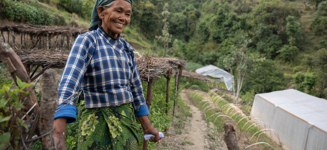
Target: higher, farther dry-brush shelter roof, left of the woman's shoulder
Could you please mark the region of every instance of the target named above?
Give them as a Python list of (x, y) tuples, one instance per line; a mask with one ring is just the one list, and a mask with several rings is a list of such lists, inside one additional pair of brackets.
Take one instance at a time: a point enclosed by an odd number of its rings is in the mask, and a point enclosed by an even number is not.
[(77, 34), (82, 34), (89, 29), (87, 28), (74, 28), (74, 27), (59, 27), (59, 26), (41, 26), (41, 25), (31, 25), (31, 24), (22, 24), (22, 25), (10, 25), (10, 26), (0, 26), (0, 31), (14, 31), (24, 34), (31, 34), (35, 36), (45, 36), (49, 35), (69, 35), (77, 36)]

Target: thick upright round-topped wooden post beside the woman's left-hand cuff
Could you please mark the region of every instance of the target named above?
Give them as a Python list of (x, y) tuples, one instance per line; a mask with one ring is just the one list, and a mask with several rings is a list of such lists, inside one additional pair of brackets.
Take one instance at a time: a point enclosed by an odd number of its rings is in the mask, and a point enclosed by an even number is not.
[(55, 148), (53, 141), (53, 120), (55, 111), (58, 106), (58, 78), (57, 71), (54, 69), (48, 69), (44, 72), (42, 82), (42, 97), (41, 97), (41, 110), (40, 110), (40, 134), (45, 135), (41, 138), (42, 150), (52, 150)]

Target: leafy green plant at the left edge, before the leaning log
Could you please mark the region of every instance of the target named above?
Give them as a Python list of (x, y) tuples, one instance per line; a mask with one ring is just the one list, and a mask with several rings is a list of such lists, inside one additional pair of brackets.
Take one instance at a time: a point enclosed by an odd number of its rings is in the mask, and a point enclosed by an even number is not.
[(3, 83), (0, 85), (0, 149), (11, 146), (18, 148), (17, 141), (21, 139), (21, 133), (28, 130), (27, 125), (21, 119), (25, 113), (25, 107), (20, 102), (21, 97), (31, 94), (23, 91), (33, 83), (27, 84), (17, 78), (16, 89), (10, 89), (11, 84)]

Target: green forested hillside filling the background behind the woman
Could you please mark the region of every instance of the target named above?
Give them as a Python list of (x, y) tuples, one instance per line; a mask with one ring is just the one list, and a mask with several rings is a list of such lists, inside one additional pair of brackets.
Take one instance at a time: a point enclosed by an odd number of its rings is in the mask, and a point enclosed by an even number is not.
[[(2, 18), (19, 22), (87, 28), (94, 2), (1, 0), (0, 11)], [(36, 15), (24, 14), (27, 10)], [(134, 0), (123, 34), (149, 55), (212, 64), (235, 77), (238, 68), (247, 67), (240, 91), (245, 100), (285, 88), (327, 98), (324, 0)], [(237, 52), (253, 60), (251, 65), (237, 65)]]

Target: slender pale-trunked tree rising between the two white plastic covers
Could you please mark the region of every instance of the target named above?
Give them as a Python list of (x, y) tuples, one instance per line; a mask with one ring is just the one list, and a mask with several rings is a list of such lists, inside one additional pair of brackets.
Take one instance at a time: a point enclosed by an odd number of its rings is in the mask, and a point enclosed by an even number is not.
[(235, 79), (233, 77), (233, 92), (234, 92), (234, 102), (238, 102), (239, 94), (243, 85), (244, 78), (247, 74), (254, 68), (259, 62), (264, 60), (258, 55), (250, 53), (248, 50), (248, 44), (251, 40), (247, 39), (245, 36), (239, 42), (237, 48), (234, 48), (233, 52), (224, 59), (225, 68), (233, 74), (233, 67), (236, 67), (237, 71), (237, 87), (236, 87), (236, 98), (235, 98)]

